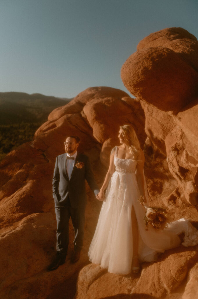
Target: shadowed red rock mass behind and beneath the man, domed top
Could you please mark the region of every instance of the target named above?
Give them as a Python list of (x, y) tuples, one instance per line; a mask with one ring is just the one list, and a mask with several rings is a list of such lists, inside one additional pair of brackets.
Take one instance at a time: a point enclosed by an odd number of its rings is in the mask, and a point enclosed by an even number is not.
[(91, 158), (100, 183), (110, 150), (118, 144), (119, 126), (132, 123), (143, 146), (144, 121), (140, 102), (124, 91), (89, 88), (66, 106), (55, 109), (32, 142), (21, 145), (4, 158), (0, 167), (0, 298), (74, 297), (77, 273), (88, 263), (88, 247), (101, 202), (87, 188), (89, 200), (81, 258), (75, 265), (69, 262), (73, 239), (70, 223), (66, 264), (57, 271), (47, 272), (56, 240), (52, 198), (55, 157), (64, 152), (63, 142), (68, 135), (78, 135), (79, 151)]

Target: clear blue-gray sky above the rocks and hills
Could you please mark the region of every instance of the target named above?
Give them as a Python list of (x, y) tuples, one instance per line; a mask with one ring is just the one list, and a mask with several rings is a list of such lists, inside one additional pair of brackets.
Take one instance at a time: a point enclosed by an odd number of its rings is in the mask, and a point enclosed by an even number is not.
[(127, 91), (121, 66), (141, 39), (167, 27), (198, 38), (198, 0), (0, 0), (0, 91)]

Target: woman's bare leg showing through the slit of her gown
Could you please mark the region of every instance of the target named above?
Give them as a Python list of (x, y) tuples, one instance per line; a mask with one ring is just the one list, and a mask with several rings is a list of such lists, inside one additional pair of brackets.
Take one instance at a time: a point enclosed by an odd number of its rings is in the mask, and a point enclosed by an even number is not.
[[(132, 271), (138, 273), (139, 259), (138, 259), (138, 222), (135, 215), (134, 207), (131, 209), (131, 224), (132, 224), (132, 236), (133, 236), (133, 260), (132, 260)], [(136, 269), (133, 269), (136, 268)]]

